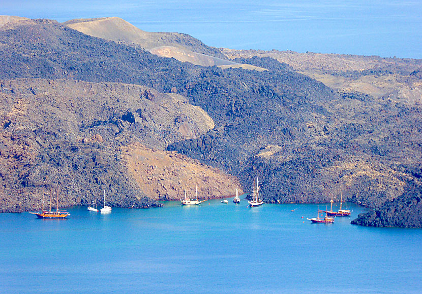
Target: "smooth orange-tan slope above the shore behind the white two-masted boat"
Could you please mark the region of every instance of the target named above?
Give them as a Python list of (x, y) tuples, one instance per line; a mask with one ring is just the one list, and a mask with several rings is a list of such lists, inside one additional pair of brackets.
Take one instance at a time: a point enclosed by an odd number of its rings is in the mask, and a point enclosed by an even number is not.
[(188, 197), (193, 198), (195, 185), (200, 199), (228, 197), (240, 188), (236, 177), (174, 152), (136, 143), (123, 147), (122, 157), (140, 189), (153, 199), (179, 200), (185, 187)]

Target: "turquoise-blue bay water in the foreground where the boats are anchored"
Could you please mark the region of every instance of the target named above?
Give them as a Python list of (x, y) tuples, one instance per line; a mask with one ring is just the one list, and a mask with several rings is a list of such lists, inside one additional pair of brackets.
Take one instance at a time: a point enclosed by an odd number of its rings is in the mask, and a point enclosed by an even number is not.
[(1, 213), (0, 293), (422, 292), (420, 229), (350, 225), (366, 209), (349, 203), (351, 217), (311, 224), (317, 205), (229, 200)]

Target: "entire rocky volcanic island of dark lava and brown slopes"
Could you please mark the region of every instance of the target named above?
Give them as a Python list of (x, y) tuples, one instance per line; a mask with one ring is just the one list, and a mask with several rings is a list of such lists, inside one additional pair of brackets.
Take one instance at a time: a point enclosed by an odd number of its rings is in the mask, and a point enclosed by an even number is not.
[(48, 187), (65, 205), (106, 190), (113, 206), (149, 207), (258, 176), (267, 203), (343, 192), (372, 209), (356, 224), (422, 226), (420, 60), (218, 50), (133, 27), (116, 40), (128, 27), (2, 17), (1, 211), (37, 208)]

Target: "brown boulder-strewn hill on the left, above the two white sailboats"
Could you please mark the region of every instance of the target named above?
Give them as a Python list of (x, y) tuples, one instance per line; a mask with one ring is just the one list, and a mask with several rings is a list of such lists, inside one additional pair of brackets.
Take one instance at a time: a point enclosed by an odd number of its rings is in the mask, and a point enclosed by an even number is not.
[(36, 209), (50, 188), (61, 190), (63, 205), (106, 190), (113, 206), (154, 206), (155, 194), (135, 185), (124, 164), (124, 147), (163, 149), (214, 127), (185, 97), (136, 85), (3, 80), (0, 105), (0, 211)]

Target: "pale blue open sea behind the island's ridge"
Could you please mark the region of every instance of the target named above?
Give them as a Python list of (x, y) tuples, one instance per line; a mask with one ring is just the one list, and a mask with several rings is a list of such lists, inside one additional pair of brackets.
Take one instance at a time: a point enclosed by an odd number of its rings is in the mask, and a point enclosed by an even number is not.
[(0, 0), (0, 14), (60, 22), (117, 16), (217, 48), (422, 58), (420, 0)]

